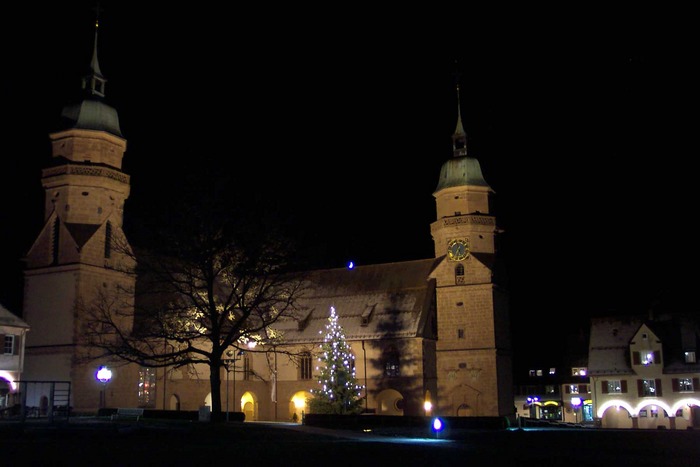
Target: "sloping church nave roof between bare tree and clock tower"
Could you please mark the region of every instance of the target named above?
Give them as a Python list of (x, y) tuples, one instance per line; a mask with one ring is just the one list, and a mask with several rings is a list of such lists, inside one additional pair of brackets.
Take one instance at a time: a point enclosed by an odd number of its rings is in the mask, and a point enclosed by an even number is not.
[(300, 300), (304, 316), (283, 318), (273, 327), (285, 343), (323, 341), (330, 307), (348, 340), (398, 337), (434, 338), (426, 322), (435, 297), (430, 274), (440, 259), (324, 269), (308, 273)]

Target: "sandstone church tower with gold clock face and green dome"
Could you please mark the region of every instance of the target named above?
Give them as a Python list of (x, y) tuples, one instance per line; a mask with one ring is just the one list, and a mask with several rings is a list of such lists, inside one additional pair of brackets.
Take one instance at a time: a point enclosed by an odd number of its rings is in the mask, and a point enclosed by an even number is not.
[(445, 416), (512, 416), (513, 375), (508, 299), (494, 280), (493, 189), (479, 161), (467, 154), (457, 85), (453, 157), (433, 193), (430, 226), (437, 268), (437, 412)]

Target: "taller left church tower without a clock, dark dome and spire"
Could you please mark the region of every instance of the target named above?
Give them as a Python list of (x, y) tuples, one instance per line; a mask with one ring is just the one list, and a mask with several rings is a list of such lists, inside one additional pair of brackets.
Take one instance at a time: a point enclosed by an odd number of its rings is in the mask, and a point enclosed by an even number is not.
[[(97, 38), (96, 22), (82, 98), (63, 109), (58, 131), (49, 135), (52, 159), (41, 177), (44, 224), (24, 258), (23, 313), (32, 329), (24, 379), (70, 382), (76, 412), (95, 410), (104, 401), (95, 379), (99, 362), (78, 358), (85, 310), (117, 287), (134, 285), (122, 231), (130, 191), (122, 172), (126, 140), (116, 110), (104, 102), (107, 80), (97, 60)], [(41, 387), (28, 397), (47, 397)], [(118, 382), (110, 387), (116, 390)]]

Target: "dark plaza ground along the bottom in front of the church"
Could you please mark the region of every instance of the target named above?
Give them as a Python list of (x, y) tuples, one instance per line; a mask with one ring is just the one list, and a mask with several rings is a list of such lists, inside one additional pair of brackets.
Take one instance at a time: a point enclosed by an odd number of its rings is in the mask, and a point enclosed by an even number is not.
[(700, 431), (334, 430), (292, 423), (0, 422), (7, 465), (598, 466), (700, 465)]

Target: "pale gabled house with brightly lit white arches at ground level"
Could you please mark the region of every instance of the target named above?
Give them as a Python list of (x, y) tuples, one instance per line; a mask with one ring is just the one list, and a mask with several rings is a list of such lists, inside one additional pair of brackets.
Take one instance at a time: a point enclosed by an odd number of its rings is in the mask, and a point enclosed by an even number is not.
[(603, 428), (700, 428), (700, 326), (692, 314), (591, 322), (589, 377)]

